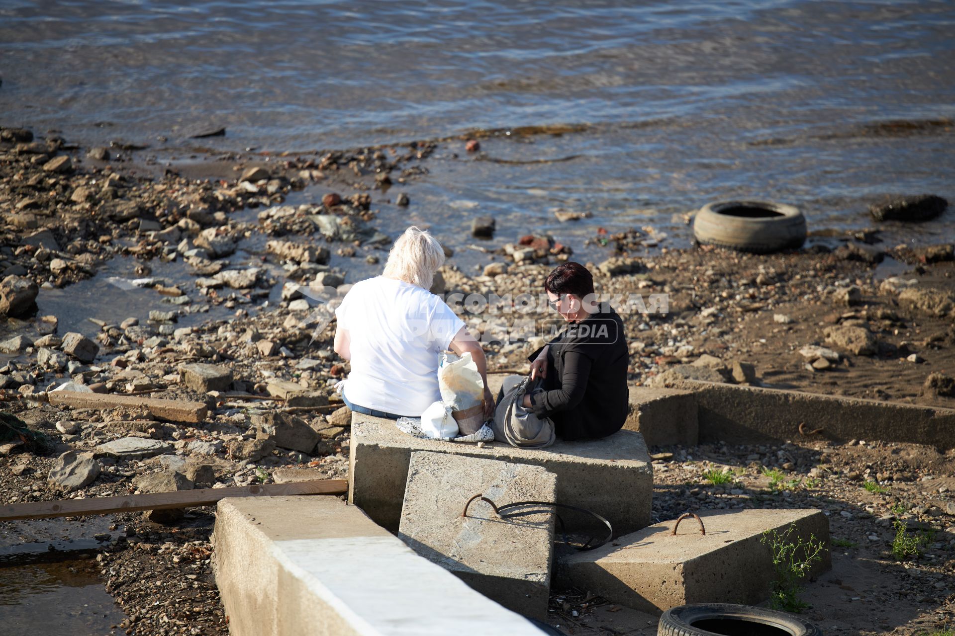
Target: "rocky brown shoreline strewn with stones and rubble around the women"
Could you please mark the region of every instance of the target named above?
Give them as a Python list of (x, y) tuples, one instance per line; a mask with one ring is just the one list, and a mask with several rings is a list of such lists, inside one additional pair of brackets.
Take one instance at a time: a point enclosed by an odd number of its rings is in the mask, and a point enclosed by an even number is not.
[[(446, 143), (459, 143), (461, 152), (477, 150), (463, 141)], [(84, 154), (54, 135), (37, 141), (29, 131), (0, 130), (0, 311), (8, 317), (0, 342), (7, 355), (0, 399), (49, 442), (45, 453), (17, 441), (0, 443), (0, 500), (347, 476), (350, 418), (332, 387), (349, 366), (331, 351), (333, 323), (316, 329), (309, 321), (320, 308), (309, 300), (332, 289), (333, 306), (355, 281), (359, 264), (383, 261), (391, 238), (375, 228), (373, 204), (389, 186), (412, 184), (424, 174), (436, 147), (420, 142), (275, 157), (257, 162), (265, 165), (236, 164), (229, 179), (174, 172), (152, 178), (126, 165), (130, 151)], [(284, 205), (293, 191), (319, 186), (326, 189), (321, 203)], [(399, 195), (399, 205), (414, 204)], [(835, 250), (751, 256), (664, 249), (634, 256), (653, 242), (640, 235), (595, 237), (607, 246), (606, 258), (588, 263), (600, 293), (668, 294), (668, 314), (623, 316), (634, 383), (655, 385), (676, 375), (955, 408), (951, 244), (885, 247), (863, 233), (845, 236)], [(237, 253), (243, 242), (261, 246), (258, 256)], [(533, 234), (513, 244), (500, 241), (487, 250), (479, 273), (446, 265), (435, 292), (462, 298), (538, 294), (543, 278), (573, 247)], [(156, 293), (157, 309), (148, 320), (103, 322), (96, 337), (87, 338), (61, 334), (56, 316), (34, 315), (43, 290), (96, 276), (117, 256), (138, 259), (136, 284)], [(151, 276), (152, 264), (173, 260), (186, 264), (192, 284)], [(465, 302), (462, 318), (485, 340), (492, 372), (524, 371), (526, 355), (553, 316), (545, 307), (520, 313), (507, 300), (495, 302), (495, 311), (485, 306), (479, 312), (468, 312)], [(179, 325), (180, 318), (210, 306), (231, 315)], [(533, 333), (499, 341), (519, 319), (531, 320)], [(50, 403), (48, 391), (66, 381), (96, 394), (200, 402), (208, 415), (189, 423), (142, 407)], [(824, 501), (836, 513), (834, 536), (871, 530), (881, 541), (884, 522), (899, 518), (947, 535), (937, 535), (940, 545), (933, 544), (932, 553), (950, 554), (955, 547), (955, 482), (935, 487), (934, 503), (920, 501), (926, 471), (955, 479), (951, 451), (816, 441), (654, 450), (661, 453), (653, 503), (658, 519), (702, 503)], [(911, 461), (896, 466), (899, 453)], [(714, 488), (701, 477), (703, 468), (729, 465), (742, 470), (737, 488)], [(789, 482), (814, 485), (771, 488), (762, 466), (778, 467)], [(861, 511), (867, 516), (859, 514), (859, 498), (868, 497), (860, 495), (859, 481), (892, 493), (869, 498)], [(118, 628), (130, 634), (226, 633), (211, 572), (212, 513), (117, 516), (117, 531), (96, 558), (129, 617)], [(865, 558), (886, 559), (876, 540), (863, 544), (859, 554), (869, 550)], [(944, 576), (953, 570), (944, 556), (917, 567)], [(904, 598), (916, 614), (938, 610), (948, 617), (953, 590), (934, 584), (934, 575), (915, 577)], [(158, 592), (165, 596), (156, 605)], [(932, 602), (919, 605), (924, 598)], [(564, 602), (552, 605), (571, 621)], [(592, 610), (600, 604), (584, 605)], [(894, 633), (918, 632), (904, 625)]]

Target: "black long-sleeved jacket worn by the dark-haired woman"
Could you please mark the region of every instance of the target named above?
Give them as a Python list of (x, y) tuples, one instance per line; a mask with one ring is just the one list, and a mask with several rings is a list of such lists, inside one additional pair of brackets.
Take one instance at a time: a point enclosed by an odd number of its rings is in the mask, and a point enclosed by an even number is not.
[[(629, 351), (617, 312), (601, 303), (600, 312), (567, 324), (547, 344), (545, 391), (532, 396), (534, 412), (550, 417), (563, 440), (603, 438), (619, 431), (629, 409)], [(528, 359), (534, 361), (541, 349)]]

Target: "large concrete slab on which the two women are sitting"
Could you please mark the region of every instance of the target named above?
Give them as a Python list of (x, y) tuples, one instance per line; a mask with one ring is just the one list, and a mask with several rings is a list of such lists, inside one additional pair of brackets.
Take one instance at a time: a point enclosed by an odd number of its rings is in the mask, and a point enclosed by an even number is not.
[(602, 440), (557, 441), (541, 450), (495, 441), (473, 443), (419, 440), (391, 420), (351, 414), (349, 501), (376, 523), (397, 530), (414, 451), (433, 451), (543, 466), (557, 475), (557, 502), (603, 515), (614, 535), (650, 523), (653, 469), (640, 433), (617, 431)]

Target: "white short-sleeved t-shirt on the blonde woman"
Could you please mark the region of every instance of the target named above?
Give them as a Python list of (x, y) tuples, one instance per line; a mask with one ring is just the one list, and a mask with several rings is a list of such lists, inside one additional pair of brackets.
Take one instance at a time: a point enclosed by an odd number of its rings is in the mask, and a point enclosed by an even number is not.
[(351, 287), (335, 317), (349, 332), (350, 402), (417, 418), (441, 399), (440, 352), (464, 326), (441, 298), (404, 280), (373, 277)]

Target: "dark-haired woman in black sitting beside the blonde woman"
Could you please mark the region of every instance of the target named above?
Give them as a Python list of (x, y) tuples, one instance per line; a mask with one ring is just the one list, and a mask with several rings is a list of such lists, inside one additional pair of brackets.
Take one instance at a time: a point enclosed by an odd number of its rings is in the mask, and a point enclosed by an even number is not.
[(544, 289), (566, 325), (531, 354), (531, 380), (540, 377), (544, 391), (525, 395), (523, 406), (551, 418), (563, 440), (616, 433), (628, 410), (624, 323), (609, 303), (596, 302), (593, 277), (580, 263), (558, 266)]

